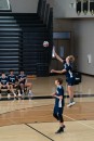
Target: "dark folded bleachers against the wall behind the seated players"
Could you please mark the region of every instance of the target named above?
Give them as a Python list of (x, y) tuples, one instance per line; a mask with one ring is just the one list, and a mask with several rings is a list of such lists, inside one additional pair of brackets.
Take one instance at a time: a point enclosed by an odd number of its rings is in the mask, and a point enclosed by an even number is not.
[(53, 10), (45, 0), (39, 1), (37, 13), (0, 13), (0, 72), (49, 76), (52, 47)]

